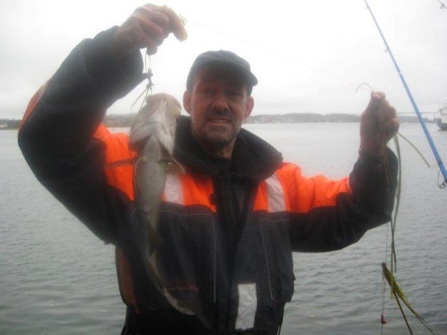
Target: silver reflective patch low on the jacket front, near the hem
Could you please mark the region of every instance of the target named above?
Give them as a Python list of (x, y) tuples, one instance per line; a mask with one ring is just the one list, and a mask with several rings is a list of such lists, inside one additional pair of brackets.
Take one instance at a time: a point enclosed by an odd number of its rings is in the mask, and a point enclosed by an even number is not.
[(237, 307), (236, 329), (251, 329), (254, 327), (254, 317), (258, 298), (256, 283), (239, 284), (239, 306)]

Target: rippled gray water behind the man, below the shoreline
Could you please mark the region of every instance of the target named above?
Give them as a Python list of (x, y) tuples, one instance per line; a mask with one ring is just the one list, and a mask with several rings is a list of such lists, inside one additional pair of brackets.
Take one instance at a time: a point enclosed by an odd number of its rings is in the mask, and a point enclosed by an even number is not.
[[(447, 132), (428, 125), (444, 161)], [(305, 175), (348, 174), (358, 151), (358, 124), (251, 124)], [(418, 124), (404, 141), (397, 221), (397, 278), (437, 334), (447, 334), (447, 189)], [(17, 131), (0, 132), (0, 334), (119, 334), (114, 248), (104, 245), (38, 184), (17, 147)], [(381, 262), (387, 227), (334, 253), (296, 253), (295, 295), (281, 334), (381, 334)], [(408, 312), (414, 334), (429, 334)], [(409, 334), (386, 292), (383, 334)]]

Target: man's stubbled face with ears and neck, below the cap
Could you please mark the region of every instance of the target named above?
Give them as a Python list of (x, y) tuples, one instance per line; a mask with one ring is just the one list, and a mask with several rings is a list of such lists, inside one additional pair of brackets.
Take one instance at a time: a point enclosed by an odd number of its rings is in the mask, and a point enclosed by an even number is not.
[(212, 150), (233, 149), (242, 121), (254, 106), (244, 78), (231, 68), (198, 69), (183, 103), (191, 114), (193, 136)]

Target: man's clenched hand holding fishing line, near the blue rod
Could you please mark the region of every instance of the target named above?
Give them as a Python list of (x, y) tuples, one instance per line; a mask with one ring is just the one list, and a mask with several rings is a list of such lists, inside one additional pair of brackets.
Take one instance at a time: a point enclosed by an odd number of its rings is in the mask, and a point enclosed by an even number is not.
[(372, 91), (371, 100), (360, 118), (360, 151), (379, 158), (385, 144), (399, 130), (395, 107), (390, 106), (383, 92)]

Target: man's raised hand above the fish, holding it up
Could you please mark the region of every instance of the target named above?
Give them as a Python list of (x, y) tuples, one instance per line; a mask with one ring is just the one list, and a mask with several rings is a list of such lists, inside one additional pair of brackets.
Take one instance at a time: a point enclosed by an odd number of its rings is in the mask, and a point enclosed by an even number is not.
[(119, 60), (145, 47), (148, 54), (155, 54), (170, 33), (177, 40), (186, 40), (188, 35), (184, 29), (184, 20), (168, 6), (147, 3), (138, 7), (113, 34), (114, 57)]

